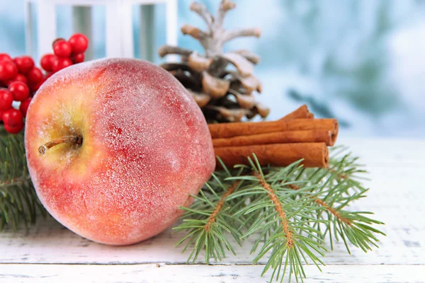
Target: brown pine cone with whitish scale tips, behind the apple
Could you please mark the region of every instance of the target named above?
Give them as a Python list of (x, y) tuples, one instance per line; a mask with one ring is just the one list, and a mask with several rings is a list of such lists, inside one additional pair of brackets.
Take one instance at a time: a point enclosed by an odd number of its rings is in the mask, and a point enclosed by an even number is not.
[(162, 64), (162, 67), (188, 89), (209, 123), (237, 122), (244, 117), (250, 120), (256, 115), (266, 117), (270, 112), (256, 102), (253, 94), (254, 91), (261, 93), (261, 82), (253, 74), (260, 57), (248, 50), (222, 52), (222, 46), (229, 40), (261, 34), (259, 28), (224, 30), (225, 14), (235, 6), (232, 1), (222, 0), (214, 18), (203, 4), (191, 4), (191, 10), (207, 23), (207, 30), (183, 25), (181, 32), (198, 40), (205, 54), (169, 45), (158, 50), (161, 57), (181, 55), (181, 62)]

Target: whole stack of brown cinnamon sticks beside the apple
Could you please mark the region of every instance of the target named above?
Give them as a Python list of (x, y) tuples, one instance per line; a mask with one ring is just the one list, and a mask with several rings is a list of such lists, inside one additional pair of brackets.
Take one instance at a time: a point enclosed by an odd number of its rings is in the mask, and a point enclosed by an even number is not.
[[(336, 119), (314, 119), (307, 105), (277, 121), (210, 124), (215, 155), (228, 168), (248, 163), (256, 154), (261, 166), (288, 166), (303, 159), (305, 167), (327, 167), (338, 136)], [(220, 163), (217, 163), (220, 169)]]

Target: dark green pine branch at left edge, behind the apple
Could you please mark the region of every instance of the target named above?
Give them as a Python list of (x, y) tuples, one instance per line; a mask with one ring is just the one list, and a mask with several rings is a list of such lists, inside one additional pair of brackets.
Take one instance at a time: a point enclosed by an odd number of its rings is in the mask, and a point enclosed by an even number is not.
[(35, 224), (38, 213), (46, 215), (26, 166), (23, 134), (8, 134), (0, 125), (0, 230)]

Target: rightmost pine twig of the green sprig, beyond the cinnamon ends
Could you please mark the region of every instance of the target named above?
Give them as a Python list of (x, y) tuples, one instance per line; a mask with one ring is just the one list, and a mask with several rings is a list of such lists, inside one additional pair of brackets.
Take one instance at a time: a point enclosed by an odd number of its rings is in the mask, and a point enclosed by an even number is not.
[[(334, 150), (337, 154), (341, 154), (341, 149)], [(344, 151), (344, 148), (342, 148)], [(351, 253), (348, 242), (365, 252), (372, 250), (372, 246), (378, 247), (378, 238), (375, 233), (385, 235), (381, 231), (370, 226), (371, 224), (383, 224), (366, 217), (364, 214), (370, 212), (351, 212), (344, 208), (353, 203), (353, 201), (365, 197), (368, 192), (361, 183), (355, 179), (361, 179), (358, 173), (365, 173), (359, 170), (356, 164), (357, 158), (352, 158), (350, 154), (344, 155), (342, 158), (334, 158), (331, 162), (331, 168), (321, 168), (315, 171), (303, 171), (306, 180), (311, 180), (317, 186), (317, 198), (312, 200), (317, 207), (324, 207), (325, 210), (314, 212), (314, 216), (318, 219), (327, 219), (325, 223), (314, 224), (314, 228), (323, 230), (322, 238), (328, 236), (331, 249), (333, 250), (333, 240), (344, 241), (348, 253)], [(308, 185), (309, 183), (305, 183)], [(293, 190), (300, 189), (300, 186), (291, 184), (289, 186)], [(323, 228), (324, 227), (324, 228)], [(333, 233), (333, 234), (332, 234)]]

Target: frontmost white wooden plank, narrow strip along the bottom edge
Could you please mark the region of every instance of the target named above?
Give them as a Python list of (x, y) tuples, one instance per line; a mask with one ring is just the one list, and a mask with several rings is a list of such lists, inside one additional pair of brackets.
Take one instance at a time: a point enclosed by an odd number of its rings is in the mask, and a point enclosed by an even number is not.
[[(0, 265), (0, 281), (268, 282), (270, 273), (260, 277), (261, 270), (261, 265)], [(305, 272), (305, 282), (423, 282), (425, 265), (328, 265), (323, 272), (310, 265)]]

